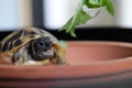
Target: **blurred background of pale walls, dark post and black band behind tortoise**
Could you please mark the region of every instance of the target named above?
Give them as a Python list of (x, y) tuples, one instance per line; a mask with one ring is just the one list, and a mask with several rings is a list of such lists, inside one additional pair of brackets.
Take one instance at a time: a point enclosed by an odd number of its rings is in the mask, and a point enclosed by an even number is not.
[[(19, 28), (25, 26), (52, 30), (51, 32), (58, 38), (73, 38), (65, 35), (65, 33), (58, 34), (55, 30), (58, 30), (69, 20), (79, 1), (80, 0), (0, 0), (0, 38)], [(87, 30), (77, 31), (78, 37), (87, 37), (86, 40), (94, 40), (94, 36), (98, 38), (101, 37), (101, 40), (105, 37), (123, 37), (123, 40), (125, 40), (123, 35), (129, 35), (125, 34), (125, 32), (128, 33), (129, 29), (129, 33), (131, 33), (130, 30), (132, 29), (132, 0), (113, 0), (113, 2), (116, 15), (112, 16), (103, 8), (100, 9), (101, 12), (97, 18), (79, 26), (79, 29), (85, 28)], [(99, 30), (89, 30), (91, 28)], [(114, 31), (106, 31), (106, 29), (103, 29), (102, 31), (100, 28), (118, 29), (114, 29)], [(116, 30), (120, 30), (120, 33)], [(130, 37), (132, 36), (127, 36), (127, 38)]]

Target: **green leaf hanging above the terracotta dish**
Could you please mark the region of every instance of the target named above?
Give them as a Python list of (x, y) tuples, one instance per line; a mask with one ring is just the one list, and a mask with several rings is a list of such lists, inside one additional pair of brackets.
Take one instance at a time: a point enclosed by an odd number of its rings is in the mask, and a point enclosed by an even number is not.
[(66, 24), (61, 29), (65, 30), (66, 33), (70, 33), (72, 36), (76, 37), (75, 28), (80, 24), (85, 24), (90, 19), (96, 18), (99, 14), (99, 11), (95, 14), (95, 16), (90, 15), (89, 12), (84, 10), (84, 7), (88, 9), (100, 9), (106, 8), (106, 10), (110, 14), (114, 14), (114, 8), (112, 0), (80, 0), (75, 14), (66, 22)]

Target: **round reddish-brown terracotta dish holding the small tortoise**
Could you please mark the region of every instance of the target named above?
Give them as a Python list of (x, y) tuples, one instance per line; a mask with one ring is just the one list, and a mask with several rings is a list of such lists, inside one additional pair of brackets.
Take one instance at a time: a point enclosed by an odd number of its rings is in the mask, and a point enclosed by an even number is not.
[(0, 66), (0, 87), (119, 88), (132, 86), (132, 44), (68, 42), (68, 66)]

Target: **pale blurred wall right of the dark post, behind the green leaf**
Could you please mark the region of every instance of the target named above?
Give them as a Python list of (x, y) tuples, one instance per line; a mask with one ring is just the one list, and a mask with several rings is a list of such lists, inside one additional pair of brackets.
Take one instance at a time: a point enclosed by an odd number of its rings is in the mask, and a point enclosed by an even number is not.
[[(54, 0), (54, 2), (53, 0), (44, 1), (46, 2), (45, 25), (59, 29), (74, 14), (80, 0)], [(101, 9), (101, 12), (97, 18), (88, 21), (82, 26), (132, 28), (132, 0), (113, 0), (113, 2), (116, 8), (114, 16), (110, 15), (105, 9)], [(55, 6), (57, 7), (55, 8)]]

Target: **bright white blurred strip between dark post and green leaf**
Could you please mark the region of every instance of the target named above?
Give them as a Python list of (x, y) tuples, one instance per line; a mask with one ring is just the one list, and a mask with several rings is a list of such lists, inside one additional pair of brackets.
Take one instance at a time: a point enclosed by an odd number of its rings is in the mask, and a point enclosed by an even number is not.
[(44, 0), (44, 25), (61, 28), (68, 19), (68, 0)]

